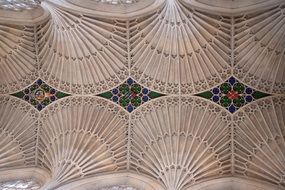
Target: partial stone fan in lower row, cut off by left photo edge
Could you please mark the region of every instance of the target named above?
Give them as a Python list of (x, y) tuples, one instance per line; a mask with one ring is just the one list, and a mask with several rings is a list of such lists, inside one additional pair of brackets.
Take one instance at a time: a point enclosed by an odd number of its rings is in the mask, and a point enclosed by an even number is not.
[(0, 169), (35, 166), (37, 117), (26, 102), (0, 96)]

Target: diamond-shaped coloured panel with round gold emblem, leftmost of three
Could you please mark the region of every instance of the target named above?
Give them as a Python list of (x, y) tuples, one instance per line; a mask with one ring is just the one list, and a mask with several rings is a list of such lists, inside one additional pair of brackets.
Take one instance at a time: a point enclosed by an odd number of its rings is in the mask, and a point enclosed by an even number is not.
[(11, 95), (29, 102), (30, 104), (35, 106), (35, 108), (37, 108), (39, 111), (41, 111), (44, 107), (46, 107), (50, 103), (60, 98), (69, 96), (69, 94), (65, 94), (50, 87), (41, 79), (38, 79), (34, 84), (29, 86), (28, 88)]

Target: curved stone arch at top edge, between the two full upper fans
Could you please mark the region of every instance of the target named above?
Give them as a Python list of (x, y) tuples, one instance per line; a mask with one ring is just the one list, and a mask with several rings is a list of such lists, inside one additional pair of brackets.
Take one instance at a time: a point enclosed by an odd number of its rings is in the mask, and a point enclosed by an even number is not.
[(155, 12), (164, 0), (47, 0), (66, 10), (103, 18), (129, 19)]

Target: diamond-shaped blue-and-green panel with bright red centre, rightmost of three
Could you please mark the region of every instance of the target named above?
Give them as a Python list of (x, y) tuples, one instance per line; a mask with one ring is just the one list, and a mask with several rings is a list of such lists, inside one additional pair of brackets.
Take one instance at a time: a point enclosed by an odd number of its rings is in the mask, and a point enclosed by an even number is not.
[(196, 94), (209, 99), (223, 107), (229, 112), (234, 113), (240, 107), (257, 100), (269, 96), (269, 94), (254, 90), (230, 77), (226, 82), (213, 88), (212, 90)]

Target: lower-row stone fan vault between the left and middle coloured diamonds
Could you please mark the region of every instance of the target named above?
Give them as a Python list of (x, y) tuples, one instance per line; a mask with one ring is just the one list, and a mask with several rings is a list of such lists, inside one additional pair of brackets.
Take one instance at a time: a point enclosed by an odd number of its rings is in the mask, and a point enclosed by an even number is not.
[(96, 97), (64, 98), (41, 112), (39, 164), (57, 184), (126, 168), (128, 116)]

